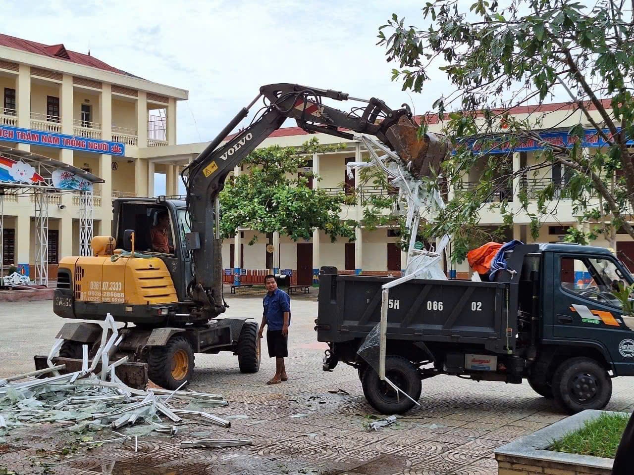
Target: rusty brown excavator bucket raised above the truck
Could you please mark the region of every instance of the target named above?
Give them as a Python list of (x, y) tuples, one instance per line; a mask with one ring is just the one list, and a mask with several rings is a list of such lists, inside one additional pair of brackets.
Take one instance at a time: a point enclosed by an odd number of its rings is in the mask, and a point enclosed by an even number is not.
[(449, 150), (449, 144), (437, 134), (427, 132), (419, 139), (418, 125), (406, 116), (387, 129), (385, 136), (394, 147), (396, 155), (403, 162), (411, 163), (410, 172), (418, 178), (429, 176), (431, 170), (438, 173)]

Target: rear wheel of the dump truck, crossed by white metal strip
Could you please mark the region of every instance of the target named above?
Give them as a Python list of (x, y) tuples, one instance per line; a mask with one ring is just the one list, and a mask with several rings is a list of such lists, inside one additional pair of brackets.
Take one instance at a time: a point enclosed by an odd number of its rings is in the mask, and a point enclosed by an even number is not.
[[(385, 376), (410, 397), (417, 401), (420, 398), (422, 384), (416, 367), (409, 360), (399, 356), (385, 358)], [(381, 381), (374, 369), (368, 367), (361, 380), (363, 395), (370, 405), (381, 414), (403, 414), (414, 403), (403, 394), (398, 393), (385, 381)]]

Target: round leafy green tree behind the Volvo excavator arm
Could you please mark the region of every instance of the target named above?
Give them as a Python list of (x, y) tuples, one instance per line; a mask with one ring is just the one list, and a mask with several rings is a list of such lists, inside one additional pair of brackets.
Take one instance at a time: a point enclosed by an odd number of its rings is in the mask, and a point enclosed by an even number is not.
[(339, 218), (345, 197), (309, 188), (308, 177), (312, 175), (317, 182), (318, 175), (297, 174), (297, 168), (305, 167), (313, 153), (334, 148), (321, 146), (313, 138), (301, 147), (274, 145), (250, 153), (242, 162), (245, 172), (228, 180), (220, 193), (222, 237), (234, 236), (238, 227), (245, 227), (261, 234), (279, 231), (297, 241), (312, 238), (317, 228), (332, 241), (354, 239), (356, 222)]

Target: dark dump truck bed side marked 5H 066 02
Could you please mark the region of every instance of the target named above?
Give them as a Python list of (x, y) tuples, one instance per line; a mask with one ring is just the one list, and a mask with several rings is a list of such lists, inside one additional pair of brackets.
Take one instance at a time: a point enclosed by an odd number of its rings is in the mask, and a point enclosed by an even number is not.
[[(318, 340), (364, 339), (380, 320), (381, 286), (392, 277), (320, 276)], [(479, 344), (495, 353), (514, 345), (515, 308), (510, 284), (462, 280), (412, 280), (391, 289), (387, 338)], [(513, 299), (515, 300), (515, 299)]]

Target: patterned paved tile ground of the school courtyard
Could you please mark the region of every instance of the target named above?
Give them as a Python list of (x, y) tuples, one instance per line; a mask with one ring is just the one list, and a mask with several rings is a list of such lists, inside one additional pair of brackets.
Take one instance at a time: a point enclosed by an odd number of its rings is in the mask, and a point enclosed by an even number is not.
[[(259, 298), (231, 295), (228, 303), (228, 316), (259, 320)], [(375, 412), (363, 398), (356, 371), (346, 365), (321, 371), (324, 346), (313, 331), (316, 299), (294, 297), (292, 308), (287, 383), (264, 384), (274, 369), (266, 357), (259, 373), (244, 375), (230, 353), (197, 355), (192, 388), (223, 393), (230, 402), (210, 412), (248, 416), (234, 419), (230, 429), (192, 419), (176, 436), (140, 438), (135, 453), (129, 442), (87, 450), (60, 426), (25, 426), (0, 445), (0, 474), (4, 467), (18, 474), (61, 475), (492, 475), (496, 447), (564, 417), (527, 384), (437, 376), (423, 383), (422, 407), (399, 418), (394, 428), (369, 432), (365, 425)], [(50, 301), (1, 304), (0, 321), (0, 376), (32, 369), (32, 355), (48, 352), (63, 323), (52, 314)], [(616, 379), (607, 409), (631, 410), (633, 388), (633, 378)], [(339, 389), (349, 395), (329, 392)], [(254, 445), (178, 448), (180, 441), (196, 437), (243, 436)]]

